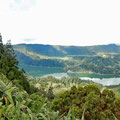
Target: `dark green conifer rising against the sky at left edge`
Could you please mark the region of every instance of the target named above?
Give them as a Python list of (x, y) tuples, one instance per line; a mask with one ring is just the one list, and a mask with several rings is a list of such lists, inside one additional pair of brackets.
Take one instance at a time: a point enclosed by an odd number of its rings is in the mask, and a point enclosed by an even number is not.
[(11, 40), (8, 40), (7, 44), (3, 45), (1, 34), (0, 58), (0, 72), (3, 73), (11, 81), (19, 81), (19, 85), (21, 85), (27, 92), (29, 92), (29, 82), (27, 81), (27, 78), (24, 75), (24, 71), (20, 71), (18, 68), (18, 61), (16, 59), (14, 49), (11, 45)]

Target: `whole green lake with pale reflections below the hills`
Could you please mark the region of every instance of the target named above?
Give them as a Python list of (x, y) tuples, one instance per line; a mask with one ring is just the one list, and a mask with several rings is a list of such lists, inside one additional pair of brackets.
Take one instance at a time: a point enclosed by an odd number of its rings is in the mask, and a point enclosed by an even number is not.
[(100, 83), (106, 86), (120, 84), (120, 77), (117, 77), (115, 75), (98, 75), (87, 73), (67, 74), (63, 68), (46, 68), (38, 66), (20, 66), (20, 69), (21, 68), (24, 68), (28, 76), (33, 77), (53, 76), (58, 79), (62, 77), (79, 77), (83, 80), (92, 80), (93, 82)]

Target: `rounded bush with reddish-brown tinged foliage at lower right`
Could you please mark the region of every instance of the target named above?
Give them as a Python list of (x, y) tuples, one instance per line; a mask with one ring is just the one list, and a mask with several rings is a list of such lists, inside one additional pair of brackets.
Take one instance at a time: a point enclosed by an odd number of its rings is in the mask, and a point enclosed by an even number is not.
[(60, 114), (71, 114), (81, 119), (84, 113), (85, 120), (114, 120), (120, 119), (120, 99), (115, 97), (112, 90), (104, 89), (102, 92), (96, 85), (85, 87), (73, 86), (53, 100), (52, 109), (59, 110)]

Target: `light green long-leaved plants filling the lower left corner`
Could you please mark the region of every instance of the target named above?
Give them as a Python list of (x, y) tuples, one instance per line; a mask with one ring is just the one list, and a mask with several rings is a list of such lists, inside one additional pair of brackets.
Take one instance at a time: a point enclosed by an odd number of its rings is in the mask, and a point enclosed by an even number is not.
[(56, 120), (58, 112), (38, 92), (28, 94), (0, 75), (0, 120)]

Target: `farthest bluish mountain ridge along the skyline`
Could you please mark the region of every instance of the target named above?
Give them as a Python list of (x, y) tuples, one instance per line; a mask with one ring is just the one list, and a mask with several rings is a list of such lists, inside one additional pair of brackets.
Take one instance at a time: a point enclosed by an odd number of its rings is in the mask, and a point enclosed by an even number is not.
[(95, 46), (59, 46), (42, 44), (18, 44), (14, 45), (15, 51), (31, 51), (50, 57), (63, 57), (67, 55), (95, 55), (100, 52), (120, 53), (120, 46), (116, 44)]

